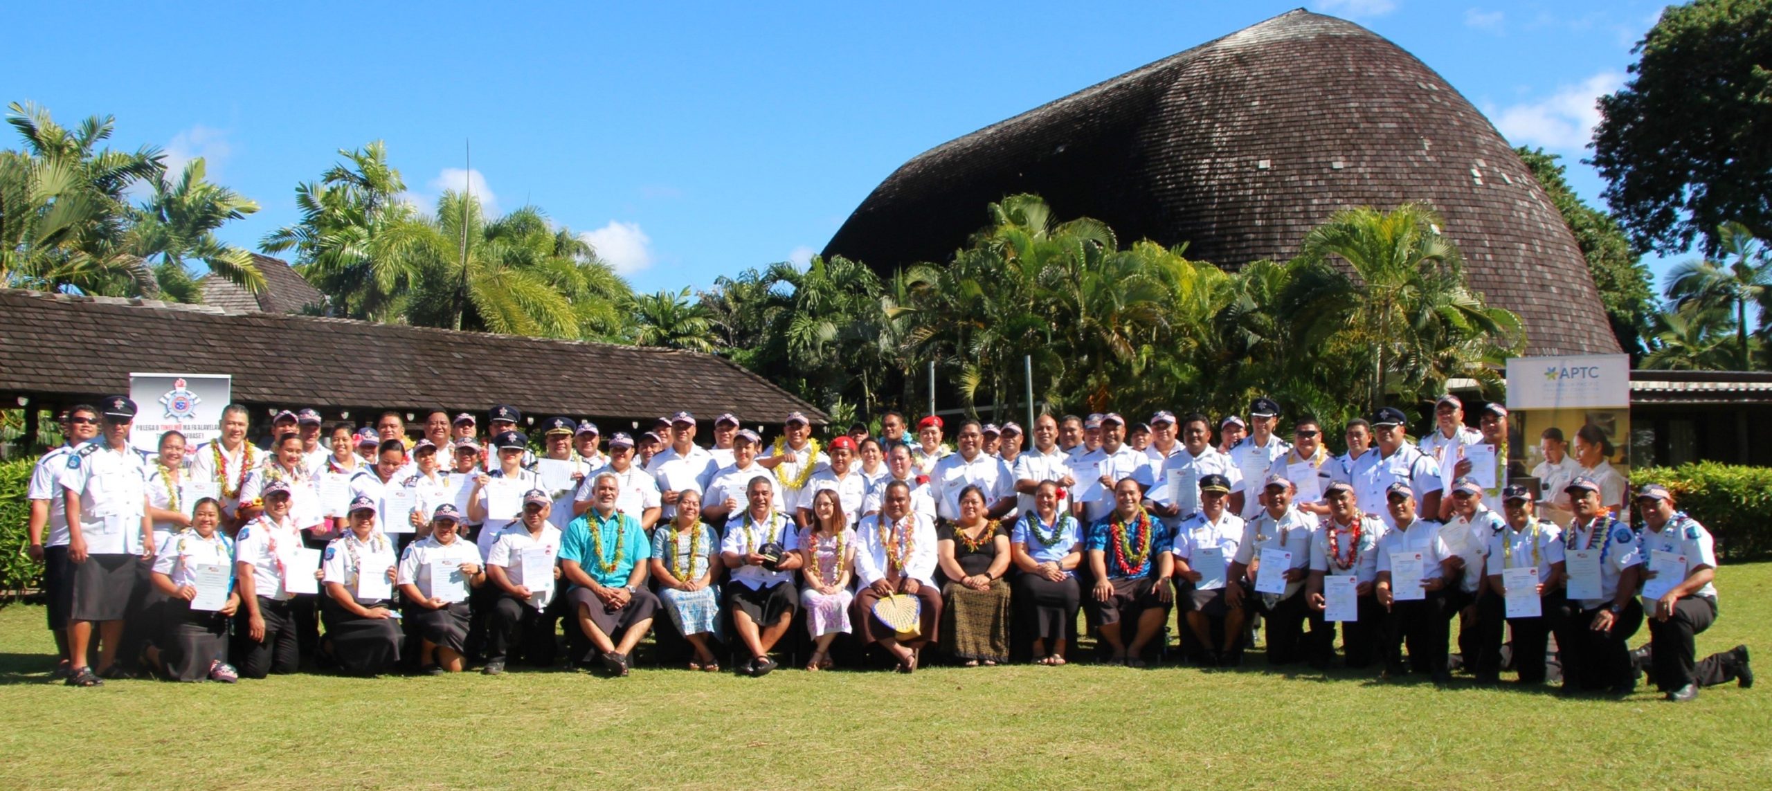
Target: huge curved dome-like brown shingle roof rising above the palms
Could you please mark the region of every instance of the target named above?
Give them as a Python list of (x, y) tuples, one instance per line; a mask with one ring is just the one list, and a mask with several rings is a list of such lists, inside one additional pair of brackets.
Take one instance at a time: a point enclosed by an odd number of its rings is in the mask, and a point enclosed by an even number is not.
[(1419, 200), (1531, 355), (1616, 353), (1575, 238), (1464, 96), (1350, 21), (1294, 11), (907, 161), (826, 255), (948, 261), (1005, 195), (1235, 270), (1283, 261), (1334, 211)]

